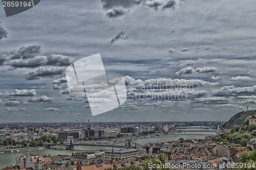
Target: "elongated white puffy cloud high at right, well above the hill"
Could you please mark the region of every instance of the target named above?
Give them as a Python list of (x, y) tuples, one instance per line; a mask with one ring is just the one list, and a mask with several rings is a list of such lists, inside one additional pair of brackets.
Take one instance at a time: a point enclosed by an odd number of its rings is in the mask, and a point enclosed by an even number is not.
[(185, 75), (185, 74), (192, 74), (194, 72), (198, 73), (208, 73), (208, 72), (216, 72), (219, 69), (216, 67), (199, 67), (199, 68), (192, 68), (192, 67), (186, 67), (182, 68), (181, 70), (177, 71), (177, 75)]

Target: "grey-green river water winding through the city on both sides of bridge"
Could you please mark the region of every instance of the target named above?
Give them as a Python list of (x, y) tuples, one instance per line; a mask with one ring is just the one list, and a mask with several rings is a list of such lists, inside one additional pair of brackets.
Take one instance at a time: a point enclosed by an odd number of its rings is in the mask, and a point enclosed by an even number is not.
[[(216, 135), (214, 132), (182, 132), (182, 133), (176, 133), (176, 134), (170, 134), (170, 135), (164, 135), (164, 136), (157, 136), (157, 137), (151, 137), (151, 138), (139, 138), (134, 139), (132, 141), (139, 143), (139, 144), (146, 144), (147, 142), (165, 142), (165, 141), (172, 141), (177, 140), (180, 137), (183, 137), (185, 139), (204, 139), (205, 136), (208, 135)], [(10, 153), (10, 154), (0, 154), (0, 169), (15, 165), (15, 158), (18, 155), (23, 154), (35, 154), (35, 155), (58, 155), (58, 154), (66, 154), (71, 155), (72, 152), (82, 152), (82, 151), (95, 151), (95, 150), (111, 150), (109, 147), (88, 147), (88, 146), (75, 146), (74, 151), (65, 150), (65, 148), (57, 148), (57, 149), (45, 149), (41, 151), (32, 151), (32, 152), (19, 152), (19, 153)]]

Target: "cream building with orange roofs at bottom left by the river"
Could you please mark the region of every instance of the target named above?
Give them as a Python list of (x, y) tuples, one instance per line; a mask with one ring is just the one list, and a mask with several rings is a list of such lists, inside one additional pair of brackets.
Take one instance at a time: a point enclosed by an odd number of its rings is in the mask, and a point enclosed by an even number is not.
[(33, 168), (34, 170), (43, 170), (45, 159), (42, 156), (19, 155), (16, 157), (16, 165), (20, 169)]

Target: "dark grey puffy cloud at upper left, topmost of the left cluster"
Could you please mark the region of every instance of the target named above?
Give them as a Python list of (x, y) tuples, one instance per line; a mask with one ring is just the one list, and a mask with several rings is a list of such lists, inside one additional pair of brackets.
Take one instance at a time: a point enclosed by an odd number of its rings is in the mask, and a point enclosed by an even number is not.
[(11, 59), (29, 59), (37, 56), (41, 52), (40, 45), (31, 45), (28, 47), (21, 47), (19, 51), (14, 54)]

